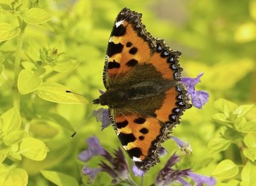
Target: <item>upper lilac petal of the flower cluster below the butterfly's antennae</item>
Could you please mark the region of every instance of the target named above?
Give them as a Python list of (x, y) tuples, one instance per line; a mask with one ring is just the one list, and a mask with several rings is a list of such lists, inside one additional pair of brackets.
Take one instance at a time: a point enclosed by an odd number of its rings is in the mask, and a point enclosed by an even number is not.
[(91, 138), (88, 138), (86, 142), (89, 145), (89, 148), (87, 150), (82, 151), (78, 155), (78, 159), (82, 160), (83, 162), (87, 162), (90, 160), (93, 156), (106, 156), (107, 152), (103, 147), (100, 145), (100, 141), (96, 136), (93, 136)]

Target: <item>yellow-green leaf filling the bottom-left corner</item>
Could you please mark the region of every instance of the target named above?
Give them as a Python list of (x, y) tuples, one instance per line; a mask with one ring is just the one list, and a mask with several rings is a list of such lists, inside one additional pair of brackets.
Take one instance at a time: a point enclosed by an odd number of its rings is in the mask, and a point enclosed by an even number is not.
[(26, 186), (28, 183), (28, 174), (23, 168), (7, 167), (0, 164), (0, 177), (0, 185)]

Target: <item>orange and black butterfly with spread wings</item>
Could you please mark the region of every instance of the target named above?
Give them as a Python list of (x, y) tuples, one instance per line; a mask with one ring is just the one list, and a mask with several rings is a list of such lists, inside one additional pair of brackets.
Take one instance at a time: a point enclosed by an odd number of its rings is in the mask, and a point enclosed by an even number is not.
[(93, 103), (109, 106), (126, 153), (147, 172), (159, 162), (161, 144), (191, 105), (180, 82), (181, 53), (151, 36), (141, 16), (127, 8), (117, 15), (103, 70), (107, 90)]

